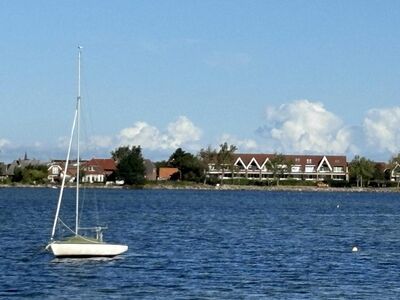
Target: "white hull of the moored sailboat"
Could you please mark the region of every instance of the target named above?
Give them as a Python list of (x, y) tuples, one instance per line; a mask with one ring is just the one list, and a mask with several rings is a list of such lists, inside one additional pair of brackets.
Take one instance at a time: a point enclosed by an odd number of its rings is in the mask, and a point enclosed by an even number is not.
[(51, 243), (50, 249), (56, 257), (112, 257), (128, 250), (127, 245), (106, 243)]

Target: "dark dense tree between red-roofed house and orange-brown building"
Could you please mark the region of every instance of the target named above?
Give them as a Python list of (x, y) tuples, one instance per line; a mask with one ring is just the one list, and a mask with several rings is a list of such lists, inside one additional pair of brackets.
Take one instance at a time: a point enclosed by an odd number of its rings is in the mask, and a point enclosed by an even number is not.
[(140, 146), (120, 147), (113, 151), (112, 157), (116, 159), (116, 178), (124, 180), (127, 185), (142, 185), (145, 182), (145, 166)]

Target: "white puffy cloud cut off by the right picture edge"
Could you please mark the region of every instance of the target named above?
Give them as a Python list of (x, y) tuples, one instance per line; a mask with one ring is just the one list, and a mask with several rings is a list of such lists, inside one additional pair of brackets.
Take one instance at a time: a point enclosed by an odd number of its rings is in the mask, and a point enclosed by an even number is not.
[(364, 118), (364, 132), (369, 146), (381, 152), (397, 154), (400, 147), (400, 107), (375, 108)]

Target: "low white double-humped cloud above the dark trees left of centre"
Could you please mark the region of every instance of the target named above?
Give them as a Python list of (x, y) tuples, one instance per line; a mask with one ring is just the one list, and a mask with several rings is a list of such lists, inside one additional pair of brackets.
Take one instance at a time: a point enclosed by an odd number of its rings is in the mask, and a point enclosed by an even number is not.
[(133, 127), (122, 129), (118, 136), (121, 145), (140, 145), (149, 150), (190, 146), (200, 137), (201, 130), (185, 116), (180, 116), (168, 124), (165, 131), (160, 131), (146, 122), (136, 122)]

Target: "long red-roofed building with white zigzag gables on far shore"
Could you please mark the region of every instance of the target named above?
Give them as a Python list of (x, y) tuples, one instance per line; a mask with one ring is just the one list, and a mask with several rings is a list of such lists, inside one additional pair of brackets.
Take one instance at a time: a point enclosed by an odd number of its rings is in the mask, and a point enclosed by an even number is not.
[(247, 178), (254, 180), (273, 179), (274, 176), (280, 176), (280, 179), (295, 180), (349, 180), (349, 172), (346, 156), (334, 155), (283, 155), (288, 169), (281, 174), (274, 174), (271, 160), (275, 154), (234, 154), (233, 168), (226, 168), (224, 172), (216, 168), (215, 165), (209, 165), (208, 174), (224, 179)]

